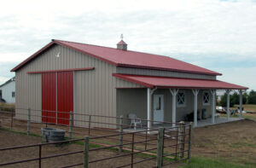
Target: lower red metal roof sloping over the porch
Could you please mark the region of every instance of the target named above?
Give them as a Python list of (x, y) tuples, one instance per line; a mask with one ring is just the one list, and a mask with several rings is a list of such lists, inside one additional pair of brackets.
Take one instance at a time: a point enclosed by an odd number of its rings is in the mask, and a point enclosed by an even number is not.
[(183, 89), (217, 89), (217, 90), (247, 90), (236, 84), (230, 84), (219, 80), (195, 79), (195, 78), (169, 78), (155, 76), (138, 76), (113, 73), (116, 78), (141, 84), (148, 88), (183, 88)]

